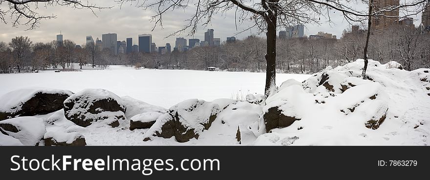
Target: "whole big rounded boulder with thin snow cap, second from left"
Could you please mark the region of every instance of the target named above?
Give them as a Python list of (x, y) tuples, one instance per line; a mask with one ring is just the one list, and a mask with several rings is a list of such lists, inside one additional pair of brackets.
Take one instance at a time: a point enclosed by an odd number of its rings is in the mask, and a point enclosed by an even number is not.
[(117, 95), (105, 89), (85, 89), (64, 100), (64, 116), (83, 127), (101, 122), (118, 127), (126, 121), (126, 105)]

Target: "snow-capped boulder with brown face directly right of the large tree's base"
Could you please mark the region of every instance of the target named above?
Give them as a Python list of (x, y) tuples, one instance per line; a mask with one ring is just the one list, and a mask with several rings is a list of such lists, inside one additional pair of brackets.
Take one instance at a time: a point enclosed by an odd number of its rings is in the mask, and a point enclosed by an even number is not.
[(293, 84), (267, 98), (263, 107), (266, 132), (274, 128), (288, 127), (294, 121), (301, 120), (300, 109), (296, 107), (301, 103), (298, 98), (301, 94), (304, 94), (303, 88)]

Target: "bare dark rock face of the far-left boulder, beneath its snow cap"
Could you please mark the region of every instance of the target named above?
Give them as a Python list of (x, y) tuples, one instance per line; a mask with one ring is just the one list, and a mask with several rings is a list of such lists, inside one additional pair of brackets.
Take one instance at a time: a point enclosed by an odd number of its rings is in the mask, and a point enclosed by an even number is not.
[[(63, 101), (69, 97), (68, 94), (36, 93), (30, 100), (22, 103), (21, 109), (14, 112), (1, 112), (0, 120), (6, 120), (17, 116), (35, 116), (48, 114), (63, 108)], [(21, 104), (17, 104), (19, 106)]]

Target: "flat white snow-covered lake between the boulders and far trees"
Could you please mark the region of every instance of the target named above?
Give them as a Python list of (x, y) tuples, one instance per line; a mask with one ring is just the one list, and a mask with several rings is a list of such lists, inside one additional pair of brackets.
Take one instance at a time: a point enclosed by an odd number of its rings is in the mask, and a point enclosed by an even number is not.
[[(248, 72), (135, 70), (125, 66), (60, 73), (40, 71), (0, 74), (0, 96), (13, 90), (33, 87), (65, 89), (74, 93), (87, 88), (102, 88), (120, 97), (129, 96), (169, 108), (180, 101), (194, 98), (212, 101), (220, 98), (237, 99), (237, 96), (244, 99), (247, 94), (263, 94), (265, 75)], [(277, 84), (288, 79), (303, 81), (309, 77), (278, 74)]]

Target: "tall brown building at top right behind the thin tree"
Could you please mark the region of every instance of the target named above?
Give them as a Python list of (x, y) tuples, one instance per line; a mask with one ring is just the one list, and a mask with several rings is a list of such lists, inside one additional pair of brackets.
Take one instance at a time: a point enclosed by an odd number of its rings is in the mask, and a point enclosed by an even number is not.
[[(400, 0), (374, 0), (374, 11), (380, 11), (386, 7), (398, 6), (400, 4)], [(382, 30), (386, 29), (397, 23), (399, 17), (399, 9), (395, 9), (392, 11), (382, 12), (382, 15), (378, 15), (375, 18), (372, 18), (371, 29), (372, 30)]]

